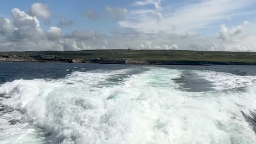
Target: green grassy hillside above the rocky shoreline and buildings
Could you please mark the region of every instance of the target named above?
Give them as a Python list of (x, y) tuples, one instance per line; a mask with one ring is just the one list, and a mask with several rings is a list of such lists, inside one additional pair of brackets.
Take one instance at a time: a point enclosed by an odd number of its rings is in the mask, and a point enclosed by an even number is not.
[(43, 54), (62, 58), (109, 58), (136, 59), (147, 61), (211, 61), (256, 63), (256, 52), (211, 52), (183, 50), (86, 50), (86, 51), (43, 51), (43, 52), (1, 52), (16, 56)]

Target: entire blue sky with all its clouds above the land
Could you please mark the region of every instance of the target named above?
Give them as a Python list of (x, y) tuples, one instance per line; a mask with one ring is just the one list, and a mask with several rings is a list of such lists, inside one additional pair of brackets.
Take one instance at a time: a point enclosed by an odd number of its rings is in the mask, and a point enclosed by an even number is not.
[(5, 1), (0, 51), (256, 51), (255, 0)]

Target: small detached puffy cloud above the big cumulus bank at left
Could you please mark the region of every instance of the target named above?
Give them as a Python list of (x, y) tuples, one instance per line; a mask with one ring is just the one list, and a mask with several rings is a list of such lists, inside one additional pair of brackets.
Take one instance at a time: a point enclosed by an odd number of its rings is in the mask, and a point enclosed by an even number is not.
[(31, 5), (29, 14), (32, 16), (42, 17), (43, 19), (49, 19), (51, 16), (51, 11), (46, 4), (33, 3)]

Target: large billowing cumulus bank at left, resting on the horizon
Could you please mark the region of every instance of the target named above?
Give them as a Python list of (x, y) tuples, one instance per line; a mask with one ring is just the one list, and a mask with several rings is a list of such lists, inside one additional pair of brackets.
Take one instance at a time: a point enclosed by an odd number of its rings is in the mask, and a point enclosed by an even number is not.
[(0, 18), (0, 51), (45, 51), (103, 49), (106, 37), (95, 31), (74, 31), (62, 35), (59, 27), (50, 27), (44, 32), (36, 16), (13, 9), (13, 26), (10, 20)]

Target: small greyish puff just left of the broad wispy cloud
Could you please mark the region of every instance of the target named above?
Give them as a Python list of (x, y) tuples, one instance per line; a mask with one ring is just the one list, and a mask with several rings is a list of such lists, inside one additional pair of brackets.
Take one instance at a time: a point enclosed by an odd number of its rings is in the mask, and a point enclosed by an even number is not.
[(107, 6), (105, 11), (116, 20), (123, 20), (127, 14), (127, 10), (125, 8), (111, 8)]

